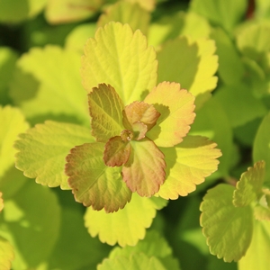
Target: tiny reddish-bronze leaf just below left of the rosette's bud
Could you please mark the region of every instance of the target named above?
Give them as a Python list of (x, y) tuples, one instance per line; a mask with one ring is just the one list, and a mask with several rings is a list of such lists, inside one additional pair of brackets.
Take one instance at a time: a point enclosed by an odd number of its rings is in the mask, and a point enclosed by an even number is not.
[(121, 136), (112, 137), (105, 144), (103, 160), (107, 166), (121, 166), (130, 157), (130, 143), (124, 141)]

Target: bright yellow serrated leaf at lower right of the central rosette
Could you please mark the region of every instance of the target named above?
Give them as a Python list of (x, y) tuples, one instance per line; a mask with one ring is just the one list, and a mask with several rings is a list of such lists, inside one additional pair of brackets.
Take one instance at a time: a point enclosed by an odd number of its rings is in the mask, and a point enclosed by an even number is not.
[(220, 149), (201, 136), (186, 136), (175, 148), (161, 148), (166, 161), (166, 181), (158, 195), (166, 200), (186, 196), (217, 170)]

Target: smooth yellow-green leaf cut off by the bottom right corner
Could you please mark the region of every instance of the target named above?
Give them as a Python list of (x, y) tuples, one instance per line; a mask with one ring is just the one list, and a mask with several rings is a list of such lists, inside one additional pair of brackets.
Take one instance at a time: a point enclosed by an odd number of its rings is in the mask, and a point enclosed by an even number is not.
[(268, 270), (270, 254), (269, 221), (254, 222), (253, 237), (247, 254), (238, 262), (239, 270)]

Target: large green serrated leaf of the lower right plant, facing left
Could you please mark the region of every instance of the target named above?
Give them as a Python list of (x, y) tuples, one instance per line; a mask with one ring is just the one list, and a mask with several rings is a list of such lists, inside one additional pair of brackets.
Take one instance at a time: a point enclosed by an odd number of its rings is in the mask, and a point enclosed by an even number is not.
[(202, 233), (212, 255), (225, 262), (238, 261), (250, 244), (253, 229), (253, 214), (249, 206), (235, 207), (232, 204), (234, 188), (219, 184), (203, 197)]

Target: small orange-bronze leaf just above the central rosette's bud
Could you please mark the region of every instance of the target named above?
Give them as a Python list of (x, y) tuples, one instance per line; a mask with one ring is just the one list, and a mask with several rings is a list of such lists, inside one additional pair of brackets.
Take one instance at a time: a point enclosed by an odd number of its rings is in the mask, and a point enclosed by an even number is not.
[(156, 122), (160, 113), (157, 112), (152, 104), (135, 101), (125, 106), (123, 112), (123, 125), (126, 129), (132, 130), (133, 125), (137, 122), (143, 122), (151, 130)]

